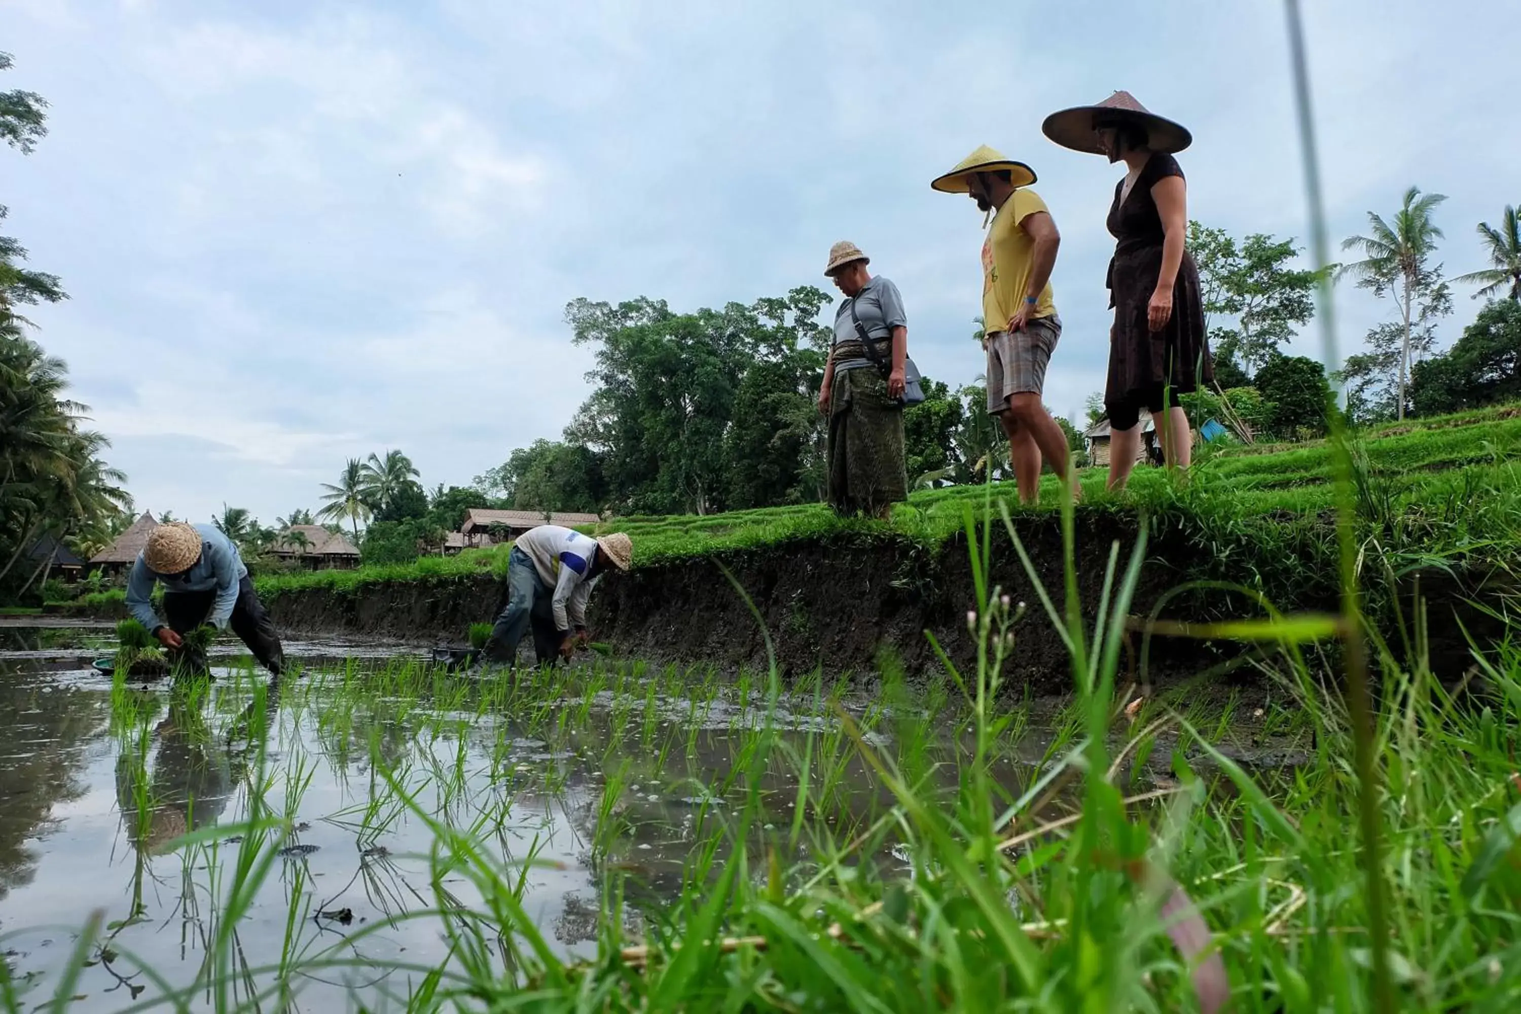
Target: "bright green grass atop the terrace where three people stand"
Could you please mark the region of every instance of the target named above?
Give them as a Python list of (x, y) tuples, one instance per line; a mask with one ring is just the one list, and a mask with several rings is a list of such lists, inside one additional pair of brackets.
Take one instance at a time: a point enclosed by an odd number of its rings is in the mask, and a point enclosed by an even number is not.
[[(1366, 520), (1390, 529), (1384, 532), (1386, 549), (1402, 538), (1402, 549), (1424, 556), (1484, 553), (1509, 559), (1521, 532), (1518, 447), (1521, 406), (1367, 430), (1358, 439), (1360, 453), (1366, 455), (1364, 488), (1372, 494), (1364, 506), (1381, 503), (1383, 514)], [(1319, 517), (1332, 508), (1331, 467), (1331, 448), (1323, 441), (1203, 448), (1186, 486), (1174, 485), (1164, 470), (1138, 468), (1130, 490), (1118, 497), (1104, 490), (1103, 468), (1088, 468), (1081, 473), (1081, 512), (1095, 517), (1139, 511), (1153, 523), (1168, 518), (1197, 529), (1202, 544), (1214, 553), (1255, 546), (1264, 555), (1293, 552), (1302, 558), (1305, 540), (1319, 541), (1308, 529), (1323, 528)], [(821, 503), (806, 503), (712, 515), (624, 517), (581, 531), (627, 532), (634, 541), (636, 567), (852, 532), (935, 547), (961, 531), (966, 506), (981, 512), (989, 497), (995, 503), (1008, 502), (1016, 515), (1056, 511), (1056, 479), (1045, 476), (1034, 508), (1019, 506), (1013, 483), (1001, 482), (919, 490), (887, 523), (841, 518)], [(411, 564), (268, 576), (259, 579), (259, 590), (260, 594), (297, 588), (353, 591), (391, 581), (447, 582), (482, 572), (503, 576), (506, 552), (508, 547), (499, 546)]]

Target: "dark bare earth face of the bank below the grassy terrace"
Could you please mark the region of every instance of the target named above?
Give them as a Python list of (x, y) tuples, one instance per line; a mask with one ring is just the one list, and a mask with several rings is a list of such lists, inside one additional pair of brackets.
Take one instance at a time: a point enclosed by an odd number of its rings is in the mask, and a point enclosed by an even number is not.
[[(1285, 611), (1334, 611), (1337, 582), (1328, 524), (1323, 518), (1287, 521), (1285, 531), (1293, 531), (1267, 550), (1250, 543), (1223, 544), (1177, 520), (1153, 518), (1130, 605), (1132, 625), (1144, 623), (1157, 607), (1159, 616), (1185, 622), (1262, 616), (1249, 596), (1218, 585), (1197, 587), (1200, 581), (1261, 590)], [(1059, 517), (1019, 517), (1015, 531), (1053, 602), (1063, 608)], [(1089, 629), (1103, 599), (1112, 547), (1119, 544), (1118, 584), (1136, 537), (1133, 514), (1078, 511), (1077, 584)], [(1497, 594), (1495, 581), (1494, 575), (1431, 572), (1401, 582), (1407, 608), (1416, 591), (1428, 602), (1430, 657), (1443, 680), (1460, 678), (1472, 661), (1463, 626), (1483, 643), (1491, 623), (1472, 602)], [(735, 584), (754, 604), (759, 622)], [(1008, 689), (1028, 687), (1036, 693), (1069, 689), (1068, 651), (1001, 523), (992, 537), (992, 585), (1025, 604), (1004, 670)], [(1369, 597), (1392, 619), (1389, 594)], [(470, 623), (493, 619), (503, 604), (505, 584), (488, 572), (354, 590), (283, 588), (266, 600), (278, 626), (292, 634), (362, 634), (450, 645), (461, 645)], [(875, 673), (884, 660), (896, 658), (910, 680), (917, 681), (943, 672), (925, 631), (934, 634), (963, 673), (976, 670), (976, 642), (967, 629), (967, 611), (973, 608), (976, 584), (964, 535), (931, 549), (890, 534), (835, 534), (608, 575), (592, 596), (589, 622), (593, 637), (610, 643), (619, 657), (759, 670), (767, 666), (764, 623), (786, 677), (815, 667), (827, 675)], [(1462, 626), (1453, 622), (1454, 613)], [(1241, 654), (1232, 645), (1176, 637), (1154, 637), (1142, 651), (1144, 640), (1139, 632), (1130, 635), (1121, 680), (1167, 684)]]

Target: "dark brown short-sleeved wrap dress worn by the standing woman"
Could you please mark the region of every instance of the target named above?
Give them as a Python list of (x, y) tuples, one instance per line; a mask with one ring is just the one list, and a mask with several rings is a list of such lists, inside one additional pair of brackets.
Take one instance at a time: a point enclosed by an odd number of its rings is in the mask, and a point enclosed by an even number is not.
[(1165, 237), (1151, 187), (1167, 176), (1182, 175), (1176, 158), (1156, 152), (1129, 196), (1121, 199), (1124, 181), (1115, 184), (1115, 202), (1109, 208), (1109, 233), (1116, 240), (1115, 257), (1109, 261), (1109, 304), (1115, 309), (1115, 324), (1109, 331), (1104, 385), (1104, 407), (1115, 429), (1132, 429), (1141, 407), (1161, 410), (1165, 388), (1171, 388), (1171, 401), (1196, 391), (1200, 382), (1214, 380), (1199, 268), (1186, 249), (1173, 283), (1173, 316), (1161, 331), (1153, 331), (1147, 322), (1147, 307), (1162, 274)]

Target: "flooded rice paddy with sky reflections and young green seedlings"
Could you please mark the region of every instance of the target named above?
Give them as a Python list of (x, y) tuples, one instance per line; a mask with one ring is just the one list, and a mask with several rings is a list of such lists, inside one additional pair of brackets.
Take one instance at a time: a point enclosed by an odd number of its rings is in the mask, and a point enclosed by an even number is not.
[[(881, 687), (611, 663), (473, 681), (344, 642), (289, 643), (274, 687), (236, 642), (210, 683), (132, 683), (90, 667), (113, 648), (0, 629), (0, 947), (18, 990), (65, 984), (71, 1009), (403, 1009), (470, 941), (513, 976), (508, 921), (569, 959), (663, 932), (735, 835), (794, 880), (841, 851), (902, 874), (865, 748), (948, 798), (967, 748), (943, 695)], [(1033, 713), (999, 736), (1007, 800), (1075, 733)]]

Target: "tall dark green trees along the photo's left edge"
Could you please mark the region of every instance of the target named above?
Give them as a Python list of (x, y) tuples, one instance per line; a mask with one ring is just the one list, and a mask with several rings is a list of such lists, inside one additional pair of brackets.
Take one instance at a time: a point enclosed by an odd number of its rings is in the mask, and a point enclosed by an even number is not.
[[(9, 68), (0, 53), (0, 71)], [(30, 154), (46, 122), (41, 96), (0, 91), (9, 147)], [(27, 336), (30, 322), (17, 312), (64, 298), (56, 275), (27, 268), (20, 242), (0, 236), (0, 602), (40, 599), (52, 546), (88, 558), (131, 518), (126, 476), (100, 456), (110, 441), (84, 426), (90, 407), (68, 397), (68, 368)]]

